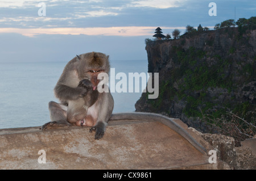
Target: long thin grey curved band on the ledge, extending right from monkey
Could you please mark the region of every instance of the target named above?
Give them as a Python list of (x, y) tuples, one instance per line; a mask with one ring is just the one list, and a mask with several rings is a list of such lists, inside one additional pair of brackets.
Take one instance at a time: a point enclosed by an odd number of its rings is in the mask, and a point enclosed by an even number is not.
[(167, 127), (171, 128), (181, 136), (183, 136), (188, 142), (190, 142), (197, 150), (203, 154), (207, 154), (207, 150), (199, 144), (184, 128), (175, 123), (173, 119), (167, 116), (159, 115), (157, 113), (147, 112), (131, 112), (131, 113), (115, 113), (112, 114), (109, 120), (146, 120), (146, 121), (158, 121)]

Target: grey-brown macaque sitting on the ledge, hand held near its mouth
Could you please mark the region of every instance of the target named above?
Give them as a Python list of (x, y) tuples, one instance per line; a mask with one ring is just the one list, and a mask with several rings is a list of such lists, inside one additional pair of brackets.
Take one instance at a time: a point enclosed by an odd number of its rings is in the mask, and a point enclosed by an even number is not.
[(101, 81), (98, 74), (109, 73), (109, 69), (109, 56), (103, 53), (85, 53), (69, 61), (54, 89), (60, 103), (49, 102), (51, 122), (41, 129), (72, 124), (89, 126), (92, 127), (90, 132), (96, 131), (96, 140), (102, 138), (112, 115), (114, 100), (110, 91), (97, 90)]

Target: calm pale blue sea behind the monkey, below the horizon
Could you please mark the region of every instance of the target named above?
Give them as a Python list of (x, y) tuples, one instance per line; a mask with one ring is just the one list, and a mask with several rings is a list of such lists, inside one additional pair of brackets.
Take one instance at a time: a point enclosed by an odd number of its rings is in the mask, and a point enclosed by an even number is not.
[[(0, 63), (0, 129), (35, 127), (50, 121), (48, 102), (58, 102), (53, 89), (67, 62)], [(147, 73), (147, 60), (112, 61), (115, 74)], [(117, 79), (115, 83), (120, 81)], [(128, 86), (128, 82), (127, 82)], [(135, 111), (140, 92), (113, 92), (114, 110)], [(128, 90), (128, 89), (127, 89)]]

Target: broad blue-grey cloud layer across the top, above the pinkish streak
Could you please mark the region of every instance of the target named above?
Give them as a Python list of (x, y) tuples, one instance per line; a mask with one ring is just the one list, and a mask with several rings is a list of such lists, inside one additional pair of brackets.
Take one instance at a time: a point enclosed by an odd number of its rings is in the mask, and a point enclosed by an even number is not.
[[(39, 2), (46, 3), (46, 16), (38, 16)], [(0, 27), (213, 26), (230, 19), (234, 9), (227, 4), (231, 2), (216, 0), (218, 15), (212, 17), (208, 15), (209, 2), (201, 0), (0, 0)], [(253, 16), (254, 4), (236, 2), (237, 19)], [(121, 35), (131, 32), (118, 31)]]

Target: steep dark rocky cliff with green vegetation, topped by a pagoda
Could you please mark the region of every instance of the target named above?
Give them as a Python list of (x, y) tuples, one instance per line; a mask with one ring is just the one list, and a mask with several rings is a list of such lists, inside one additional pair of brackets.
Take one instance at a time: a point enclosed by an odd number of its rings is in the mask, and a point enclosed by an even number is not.
[(256, 30), (196, 32), (148, 41), (146, 50), (148, 72), (159, 73), (159, 97), (143, 93), (136, 111), (176, 117), (201, 132), (209, 132), (203, 115), (255, 112)]

